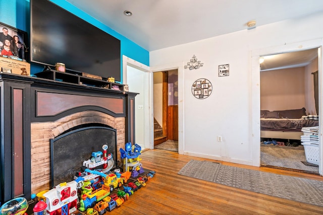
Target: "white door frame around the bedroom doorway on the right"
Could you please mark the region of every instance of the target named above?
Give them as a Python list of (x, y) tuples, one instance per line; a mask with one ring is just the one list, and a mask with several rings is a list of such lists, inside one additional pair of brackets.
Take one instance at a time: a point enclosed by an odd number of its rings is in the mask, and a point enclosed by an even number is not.
[(285, 44), (276, 47), (263, 48), (253, 50), (251, 52), (252, 57), (252, 108), (251, 108), (251, 117), (252, 117), (252, 165), (260, 166), (260, 63), (259, 56), (263, 55), (272, 55), (284, 52), (291, 51), (301, 51), (305, 49), (318, 48), (318, 109), (319, 109), (319, 174), (323, 175), (323, 146), (322, 146), (322, 114), (323, 114), (323, 101), (322, 101), (322, 39), (309, 40), (303, 42), (297, 42), (292, 44)]

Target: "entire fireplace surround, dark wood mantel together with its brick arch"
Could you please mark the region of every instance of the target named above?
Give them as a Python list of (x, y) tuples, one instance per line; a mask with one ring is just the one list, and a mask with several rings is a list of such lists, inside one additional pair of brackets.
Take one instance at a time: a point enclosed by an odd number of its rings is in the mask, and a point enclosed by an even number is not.
[[(50, 188), (50, 142), (84, 124), (117, 130), (117, 159), (135, 142), (137, 93), (0, 74), (0, 201)], [(5, 125), (5, 126), (4, 126)], [(117, 165), (117, 164), (116, 164)]]

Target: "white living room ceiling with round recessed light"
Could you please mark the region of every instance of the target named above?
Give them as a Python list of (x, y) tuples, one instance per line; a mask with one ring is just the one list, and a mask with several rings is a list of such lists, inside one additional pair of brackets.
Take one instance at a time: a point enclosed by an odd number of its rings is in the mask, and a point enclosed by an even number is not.
[[(67, 0), (67, 2), (148, 51), (245, 30), (249, 21), (256, 21), (258, 27), (323, 12), (322, 0)], [(131, 11), (132, 16), (125, 16), (124, 11)], [(301, 58), (305, 60), (304, 56)], [(307, 59), (307, 62), (309, 60), (312, 59)], [(269, 62), (266, 60), (264, 63), (266, 69), (277, 67), (273, 61), (271, 66)]]

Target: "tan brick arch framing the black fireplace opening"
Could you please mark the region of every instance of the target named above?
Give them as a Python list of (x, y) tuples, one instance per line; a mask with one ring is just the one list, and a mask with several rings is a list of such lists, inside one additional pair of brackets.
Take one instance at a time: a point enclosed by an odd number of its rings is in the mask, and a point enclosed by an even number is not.
[[(124, 148), (125, 117), (113, 117), (98, 111), (82, 111), (53, 122), (31, 123), (31, 192), (37, 193), (50, 187), (49, 139), (79, 125), (100, 123), (117, 129), (117, 149)], [(91, 152), (89, 152), (91, 153)], [(120, 152), (118, 161), (120, 161)], [(68, 161), (66, 161), (68, 162)]]

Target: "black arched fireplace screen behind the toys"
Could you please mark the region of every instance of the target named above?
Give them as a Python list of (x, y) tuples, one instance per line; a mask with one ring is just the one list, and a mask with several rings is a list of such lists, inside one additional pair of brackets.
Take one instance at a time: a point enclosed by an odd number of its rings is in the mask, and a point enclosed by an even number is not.
[(117, 164), (117, 131), (110, 127), (88, 126), (64, 133), (50, 139), (51, 187), (73, 180), (84, 169), (83, 162), (92, 152), (102, 152), (107, 145), (107, 155), (113, 154)]

